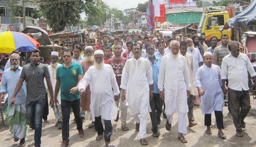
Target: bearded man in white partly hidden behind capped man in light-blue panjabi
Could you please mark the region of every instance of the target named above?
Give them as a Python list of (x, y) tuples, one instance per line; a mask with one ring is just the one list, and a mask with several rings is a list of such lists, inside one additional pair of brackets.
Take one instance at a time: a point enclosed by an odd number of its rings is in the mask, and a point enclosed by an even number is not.
[[(187, 43), (187, 53), (191, 54), (193, 57), (193, 75), (195, 80), (196, 72), (198, 68), (203, 65), (203, 58), (200, 54), (199, 49), (194, 47), (193, 40), (191, 38), (187, 38), (186, 43)], [(194, 104), (196, 106), (200, 106), (200, 97), (198, 97), (198, 95), (194, 97)]]

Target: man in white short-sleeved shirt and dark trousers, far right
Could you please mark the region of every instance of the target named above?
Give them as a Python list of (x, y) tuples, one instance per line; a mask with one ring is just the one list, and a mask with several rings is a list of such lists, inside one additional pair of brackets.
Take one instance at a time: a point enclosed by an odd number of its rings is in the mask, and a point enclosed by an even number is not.
[[(228, 104), (236, 128), (236, 136), (243, 137), (244, 119), (251, 108), (248, 72), (254, 81), (256, 81), (256, 73), (248, 56), (239, 52), (237, 41), (231, 41), (228, 48), (230, 54), (222, 59), (221, 65), (223, 91), (225, 94), (229, 91)], [(229, 80), (228, 89), (225, 86), (226, 78)], [(253, 83), (253, 86), (256, 86), (256, 82)]]

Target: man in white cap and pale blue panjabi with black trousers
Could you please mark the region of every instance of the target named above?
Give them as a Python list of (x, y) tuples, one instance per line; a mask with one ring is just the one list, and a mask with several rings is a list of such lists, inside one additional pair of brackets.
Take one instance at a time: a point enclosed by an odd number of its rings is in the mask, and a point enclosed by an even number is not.
[(201, 66), (196, 74), (196, 87), (198, 89), (199, 95), (201, 96), (201, 109), (204, 114), (204, 125), (207, 129), (206, 134), (212, 134), (211, 132), (211, 113), (214, 111), (218, 136), (221, 139), (226, 139), (225, 134), (222, 132), (224, 129), (223, 125), (223, 91), (221, 83), (221, 69), (217, 65), (212, 64), (212, 53), (210, 51), (205, 51), (204, 65)]

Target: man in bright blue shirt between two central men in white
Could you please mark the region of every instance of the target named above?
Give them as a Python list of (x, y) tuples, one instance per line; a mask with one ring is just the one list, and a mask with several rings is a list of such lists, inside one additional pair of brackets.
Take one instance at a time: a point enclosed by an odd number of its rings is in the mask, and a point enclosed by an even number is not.
[(158, 129), (157, 125), (160, 124), (160, 122), (161, 122), (160, 116), (161, 116), (161, 113), (163, 112), (162, 107), (164, 104), (164, 101), (160, 98), (160, 95), (159, 95), (160, 91), (157, 86), (161, 59), (154, 55), (155, 49), (154, 49), (153, 44), (147, 44), (146, 51), (148, 54), (147, 59), (149, 60), (152, 71), (153, 71), (153, 81), (154, 81), (154, 83), (153, 83), (153, 88), (154, 88), (153, 98), (151, 98), (149, 101), (150, 108), (152, 110), (151, 112), (149, 112), (150, 119), (152, 122), (151, 130), (153, 132), (153, 137), (159, 137), (159, 133), (157, 131), (157, 129)]

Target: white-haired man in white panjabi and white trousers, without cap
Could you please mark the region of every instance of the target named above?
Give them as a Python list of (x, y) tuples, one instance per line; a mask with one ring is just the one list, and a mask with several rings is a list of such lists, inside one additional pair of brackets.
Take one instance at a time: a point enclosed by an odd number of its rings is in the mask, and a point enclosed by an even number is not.
[(183, 134), (187, 133), (186, 114), (188, 112), (187, 98), (191, 85), (186, 58), (179, 55), (179, 42), (170, 41), (170, 54), (162, 58), (158, 76), (160, 98), (165, 101), (166, 130), (172, 128), (173, 114), (178, 111), (178, 139), (186, 143)]

